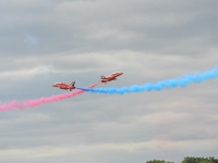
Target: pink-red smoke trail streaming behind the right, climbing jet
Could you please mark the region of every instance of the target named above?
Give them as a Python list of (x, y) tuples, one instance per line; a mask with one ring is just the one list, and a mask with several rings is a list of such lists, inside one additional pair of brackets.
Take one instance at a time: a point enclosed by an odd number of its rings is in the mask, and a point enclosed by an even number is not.
[[(95, 85), (89, 86), (88, 88), (94, 88), (99, 84), (100, 83), (97, 83)], [(75, 90), (75, 91), (70, 92), (70, 93), (63, 93), (63, 95), (52, 96), (52, 97), (48, 97), (48, 98), (28, 100), (28, 101), (25, 101), (25, 102), (12, 101), (12, 102), (7, 103), (7, 104), (1, 104), (0, 111), (12, 110), (12, 109), (15, 109), (15, 108), (19, 108), (19, 109), (24, 109), (26, 106), (33, 108), (33, 106), (40, 105), (40, 104), (44, 104), (44, 103), (56, 102), (56, 101), (60, 101), (60, 100), (63, 100), (63, 99), (66, 99), (66, 98), (72, 98), (72, 97), (75, 97), (75, 96), (83, 93), (83, 92), (84, 92), (84, 90)]]

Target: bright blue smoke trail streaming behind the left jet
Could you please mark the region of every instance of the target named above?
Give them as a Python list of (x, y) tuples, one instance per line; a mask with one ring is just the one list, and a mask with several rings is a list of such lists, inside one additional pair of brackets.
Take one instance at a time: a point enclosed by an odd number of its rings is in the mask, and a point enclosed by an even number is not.
[(134, 85), (131, 87), (122, 87), (122, 88), (77, 88), (77, 89), (83, 89), (85, 91), (90, 91), (90, 92), (99, 92), (99, 93), (120, 93), (123, 95), (125, 92), (140, 92), (140, 91), (152, 91), (157, 90), (161, 91), (162, 88), (174, 88), (178, 86), (185, 87), (186, 85), (191, 83), (202, 83), (206, 79), (211, 79), (218, 77), (218, 66), (215, 66), (210, 71), (206, 71), (202, 74), (194, 73), (194, 74), (187, 74), (184, 75), (184, 77), (180, 78), (172, 78), (172, 79), (164, 79), (157, 83), (147, 83), (145, 85)]

